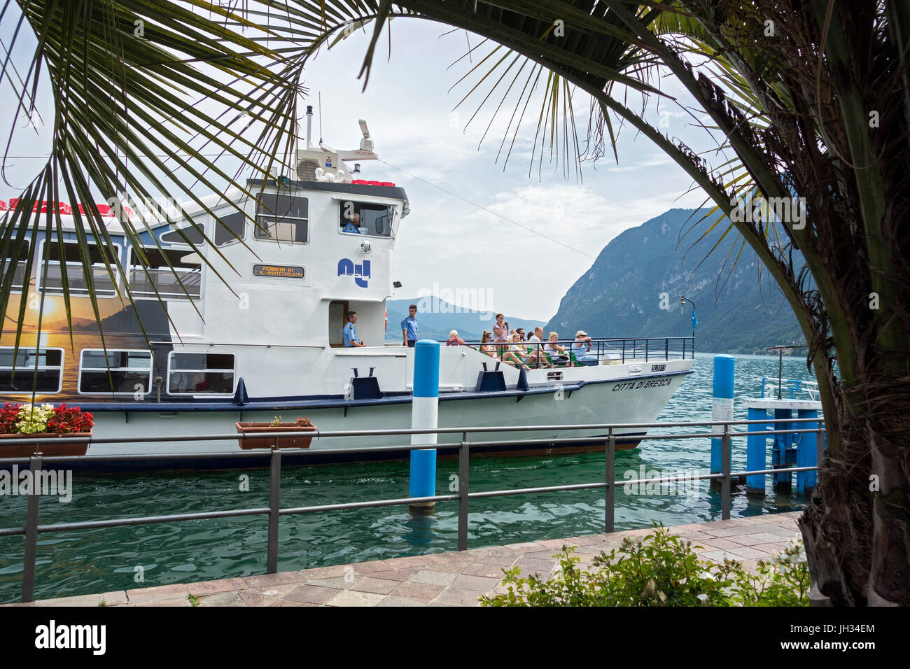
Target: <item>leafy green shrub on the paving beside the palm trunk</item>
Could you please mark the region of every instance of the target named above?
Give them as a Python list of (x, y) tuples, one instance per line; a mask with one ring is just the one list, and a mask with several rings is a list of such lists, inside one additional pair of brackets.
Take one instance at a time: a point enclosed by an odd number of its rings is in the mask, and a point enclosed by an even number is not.
[(699, 559), (692, 542), (655, 524), (643, 538), (594, 558), (591, 571), (579, 569), (574, 549), (563, 546), (556, 575), (523, 577), (518, 567), (503, 570), (508, 592), (483, 596), (484, 606), (807, 606), (809, 571), (801, 539), (755, 573), (742, 563)]

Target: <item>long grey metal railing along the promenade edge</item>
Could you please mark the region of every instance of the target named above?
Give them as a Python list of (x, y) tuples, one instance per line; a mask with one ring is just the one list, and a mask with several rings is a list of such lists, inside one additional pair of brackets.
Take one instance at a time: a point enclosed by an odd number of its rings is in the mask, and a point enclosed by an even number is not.
[[(774, 430), (767, 430), (769, 423), (784, 423), (783, 425), (774, 424)], [(800, 423), (808, 423), (800, 425)], [(746, 430), (733, 430), (734, 426), (746, 426)], [(776, 429), (776, 428), (782, 429)], [(686, 431), (681, 434), (646, 434), (636, 436), (636, 441), (648, 440), (668, 440), (668, 439), (720, 439), (721, 440), (721, 471), (708, 474), (692, 475), (692, 471), (685, 474), (673, 473), (669, 476), (660, 478), (634, 478), (632, 480), (623, 478), (622, 481), (616, 480), (616, 462), (615, 448), (616, 441), (622, 440), (622, 432), (630, 429), (651, 429), (651, 428), (684, 428)], [(692, 428), (709, 428), (708, 431), (692, 431)], [(784, 429), (785, 428), (785, 429)], [(795, 428), (795, 429), (791, 429)], [(131, 518), (113, 518), (98, 521), (80, 521), (80, 522), (55, 522), (51, 524), (41, 524), (38, 522), (39, 502), (41, 499), (40, 491), (36, 485), (32, 485), (28, 492), (28, 502), (25, 512), (25, 525), (22, 527), (5, 527), (0, 528), (0, 537), (5, 536), (25, 536), (25, 549), (23, 554), (23, 575), (22, 575), (22, 602), (31, 602), (34, 599), (35, 588), (35, 560), (37, 556), (37, 539), (39, 534), (49, 532), (73, 532), (76, 530), (89, 529), (106, 529), (111, 527), (125, 527), (134, 525), (146, 525), (158, 522), (181, 522), (197, 521), (211, 518), (233, 518), (239, 516), (265, 515), (268, 516), (268, 541), (267, 541), (267, 561), (266, 573), (278, 572), (278, 520), (281, 516), (297, 515), (300, 513), (331, 512), (348, 509), (366, 509), (379, 506), (395, 506), (404, 504), (420, 504), (425, 502), (458, 502), (458, 550), (466, 551), (468, 549), (468, 510), (471, 500), (480, 500), (488, 497), (502, 497), (507, 495), (528, 495), (541, 492), (561, 492), (573, 490), (590, 490), (602, 488), (604, 490), (604, 517), (603, 531), (613, 532), (615, 527), (615, 495), (616, 489), (625, 488), (625, 486), (641, 485), (650, 486), (652, 484), (667, 483), (679, 484), (683, 478), (685, 481), (720, 481), (721, 487), (721, 517), (723, 520), (730, 518), (731, 511), (731, 489), (734, 478), (745, 476), (758, 476), (765, 474), (782, 474), (794, 471), (817, 471), (819, 467), (784, 467), (756, 471), (731, 471), (732, 461), (732, 443), (733, 439), (743, 438), (750, 433), (761, 431), (765, 436), (775, 434), (814, 434), (815, 435), (815, 456), (816, 462), (824, 461), (824, 422), (818, 419), (778, 419), (763, 421), (708, 421), (708, 422), (662, 422), (662, 423), (616, 423), (616, 424), (593, 424), (593, 425), (527, 425), (515, 426), (508, 428), (509, 432), (531, 432), (531, 431), (603, 431), (605, 436), (599, 437), (568, 437), (560, 439), (541, 438), (541, 439), (516, 439), (516, 440), (497, 440), (482, 441), (482, 435), (489, 432), (501, 432), (502, 427), (470, 427), (470, 428), (437, 428), (423, 430), (357, 430), (357, 431), (300, 431), (284, 432), (275, 434), (275, 445), (268, 451), (233, 451), (233, 452), (206, 452), (205, 457), (217, 461), (218, 459), (227, 458), (244, 458), (263, 459), (268, 454), (269, 466), (269, 488), (268, 488), (268, 506), (251, 508), (251, 509), (225, 509), (210, 512), (193, 512), (193, 513), (170, 513), (161, 515), (148, 515)], [(319, 504), (315, 506), (300, 507), (281, 507), (281, 461), (283, 451), (278, 446), (279, 437), (319, 437), (321, 439), (330, 439), (333, 437), (364, 437), (373, 438), (378, 436), (395, 435), (401, 437), (410, 437), (415, 434), (460, 434), (460, 443), (434, 445), (439, 451), (457, 451), (459, 460), (459, 472), (457, 482), (458, 492), (443, 495), (431, 495), (426, 497), (399, 497), (395, 499), (369, 500), (366, 502), (342, 502), (337, 504)], [(469, 441), (469, 435), (480, 435), (481, 441)], [(257, 433), (256, 438), (271, 437), (267, 433)], [(196, 441), (201, 447), (205, 448), (207, 441), (222, 441), (234, 439), (246, 439), (248, 435), (244, 434), (215, 434), (215, 435), (183, 435), (167, 437), (147, 437), (142, 441), (148, 442), (167, 442), (167, 441)], [(135, 438), (108, 438), (92, 439), (90, 437), (75, 438), (68, 441), (78, 441), (92, 444), (136, 444)], [(532, 446), (540, 445), (542, 447), (552, 447), (559, 443), (572, 442), (574, 444), (587, 443), (591, 445), (603, 445), (604, 452), (604, 475), (599, 481), (579, 481), (563, 485), (541, 486), (535, 488), (510, 488), (505, 490), (492, 490), (482, 492), (470, 492), (470, 468), (468, 466), (470, 449), (472, 447), (482, 446)], [(54, 438), (36, 438), (25, 437), (21, 440), (6, 440), (5, 444), (11, 446), (27, 444), (37, 444), (40, 449), (42, 445), (53, 445), (59, 443)], [(362, 453), (379, 453), (382, 451), (417, 451), (427, 449), (428, 444), (420, 445), (395, 445), (395, 446), (367, 446), (358, 448), (343, 449), (320, 449), (320, 455), (356, 455)], [(308, 451), (301, 449), (285, 449), (284, 452), (291, 454), (303, 454)], [(49, 473), (44, 469), (45, 464), (54, 463), (55, 470), (66, 470), (66, 465), (71, 462), (100, 462), (100, 461), (130, 461), (141, 458), (143, 461), (155, 460), (181, 460), (198, 458), (199, 453), (167, 453), (153, 455), (142, 453), (141, 455), (76, 455), (76, 456), (45, 456), (40, 451), (30, 456), (20, 456), (17, 458), (0, 458), (0, 467), (6, 468), (13, 465), (25, 464), (29, 471), (32, 472), (33, 481), (42, 473), (45, 476)], [(253, 460), (251, 464), (255, 464)], [(20, 474), (21, 475), (21, 474)], [(625, 488), (629, 490), (629, 488)], [(475, 506), (476, 510), (476, 506)]]

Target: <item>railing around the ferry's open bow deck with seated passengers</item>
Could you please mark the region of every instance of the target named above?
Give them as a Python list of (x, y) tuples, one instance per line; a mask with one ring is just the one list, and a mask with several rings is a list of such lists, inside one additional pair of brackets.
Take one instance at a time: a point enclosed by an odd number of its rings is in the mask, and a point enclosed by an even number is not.
[[(445, 344), (446, 341), (442, 340), (440, 343)], [(465, 340), (464, 345), (480, 350), (493, 360), (505, 362), (513, 367), (534, 370), (626, 362), (692, 360), (695, 357), (694, 337), (591, 337), (591, 341), (585, 342), (571, 339), (544, 340), (540, 343)], [(552, 348), (551, 345), (556, 348)]]

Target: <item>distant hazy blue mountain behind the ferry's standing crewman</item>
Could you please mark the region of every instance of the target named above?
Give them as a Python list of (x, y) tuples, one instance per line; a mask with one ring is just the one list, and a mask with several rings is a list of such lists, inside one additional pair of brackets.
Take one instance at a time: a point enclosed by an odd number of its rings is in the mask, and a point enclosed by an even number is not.
[[(386, 341), (400, 341), (401, 329), (399, 324), (408, 318), (408, 307), (417, 305), (417, 322), (420, 338), (432, 340), (448, 340), (453, 329), (458, 330), (462, 340), (480, 340), (483, 329), (492, 331), (496, 322), (495, 311), (473, 311), (463, 309), (458, 305), (439, 299), (435, 296), (415, 299), (389, 299), (386, 309), (389, 309), (389, 327), (386, 328)], [(516, 319), (506, 316), (506, 322), (511, 329), (524, 328), (531, 332), (537, 326), (543, 326), (542, 320)]]

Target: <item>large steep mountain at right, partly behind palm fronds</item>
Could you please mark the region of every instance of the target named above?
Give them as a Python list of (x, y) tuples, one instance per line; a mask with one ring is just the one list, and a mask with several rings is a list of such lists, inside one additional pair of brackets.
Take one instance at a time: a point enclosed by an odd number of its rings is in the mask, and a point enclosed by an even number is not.
[(793, 310), (767, 269), (759, 279), (752, 248), (745, 245), (741, 253), (743, 240), (734, 230), (721, 238), (726, 219), (695, 243), (713, 223), (714, 215), (698, 223), (708, 211), (671, 209), (622, 232), (569, 289), (544, 330), (564, 338), (579, 329), (591, 337), (690, 335), (692, 305), (681, 313), (684, 295), (697, 307), (695, 350), (758, 353), (776, 344), (804, 343)]

